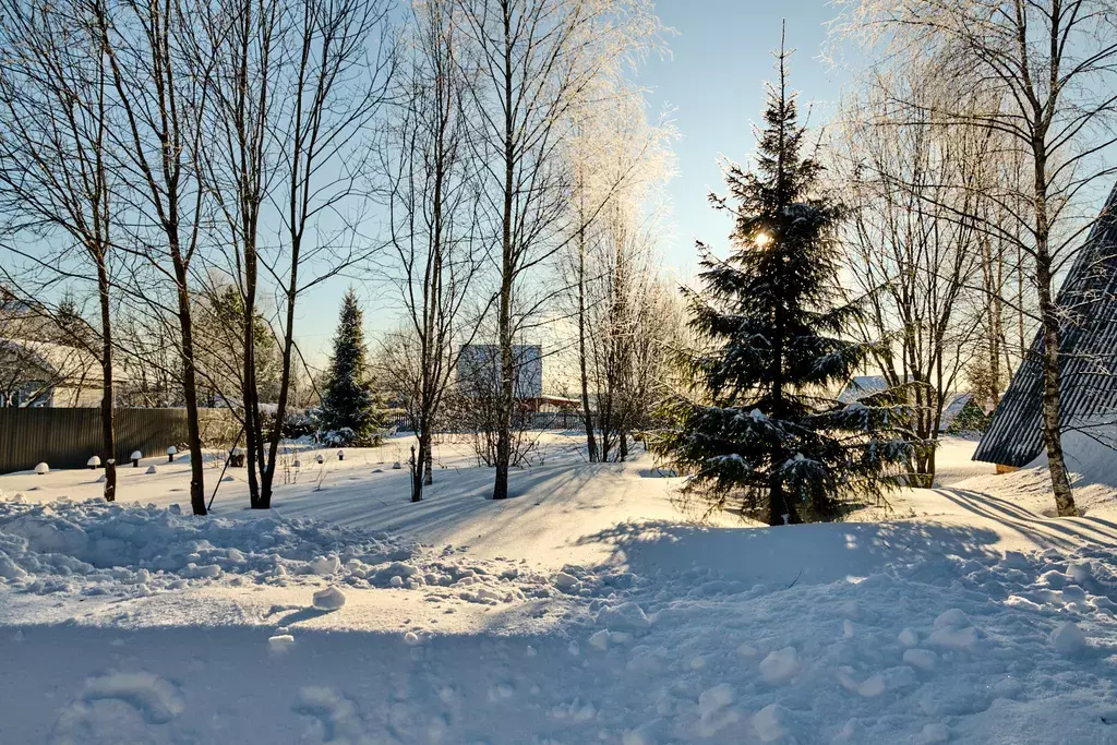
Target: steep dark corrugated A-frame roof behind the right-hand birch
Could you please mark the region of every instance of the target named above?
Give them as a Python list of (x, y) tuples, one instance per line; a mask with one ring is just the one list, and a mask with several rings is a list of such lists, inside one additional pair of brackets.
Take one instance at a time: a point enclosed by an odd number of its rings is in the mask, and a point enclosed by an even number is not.
[[(1062, 431), (1117, 430), (1117, 187), (1067, 274), (1057, 297)], [(1043, 338), (1028, 356), (993, 412), (974, 460), (1013, 470), (1043, 451), (1040, 427)]]

